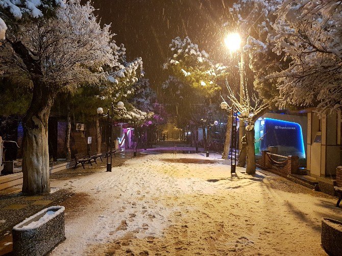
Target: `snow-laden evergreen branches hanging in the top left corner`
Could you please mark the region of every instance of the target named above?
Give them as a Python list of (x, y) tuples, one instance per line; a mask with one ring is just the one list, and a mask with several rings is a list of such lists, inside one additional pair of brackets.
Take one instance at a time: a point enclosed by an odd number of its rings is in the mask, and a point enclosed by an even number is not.
[(65, 7), (64, 0), (0, 0), (0, 39), (5, 39), (8, 26), (16, 27), (21, 19), (42, 17), (57, 6)]

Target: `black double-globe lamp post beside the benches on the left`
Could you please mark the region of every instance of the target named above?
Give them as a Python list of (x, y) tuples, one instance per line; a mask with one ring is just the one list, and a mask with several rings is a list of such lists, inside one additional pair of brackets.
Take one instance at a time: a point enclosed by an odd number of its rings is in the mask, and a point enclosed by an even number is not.
[[(123, 110), (125, 105), (122, 101), (119, 101), (116, 105), (117, 107), (114, 107), (114, 104), (111, 103), (111, 114), (109, 112), (109, 109), (106, 114), (103, 113), (103, 108), (97, 108), (97, 114), (99, 116), (106, 116), (107, 117), (107, 124), (109, 126), (109, 133), (107, 132), (107, 170), (106, 171), (112, 171), (112, 160), (113, 160), (113, 111), (114, 110)], [(110, 162), (109, 162), (109, 156), (110, 156)]]

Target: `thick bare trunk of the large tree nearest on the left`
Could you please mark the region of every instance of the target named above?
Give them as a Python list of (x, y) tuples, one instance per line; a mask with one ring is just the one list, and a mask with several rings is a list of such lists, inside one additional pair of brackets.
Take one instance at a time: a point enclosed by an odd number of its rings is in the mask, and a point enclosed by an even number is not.
[(22, 192), (30, 195), (50, 193), (47, 122), (55, 93), (34, 81), (33, 97), (24, 121)]

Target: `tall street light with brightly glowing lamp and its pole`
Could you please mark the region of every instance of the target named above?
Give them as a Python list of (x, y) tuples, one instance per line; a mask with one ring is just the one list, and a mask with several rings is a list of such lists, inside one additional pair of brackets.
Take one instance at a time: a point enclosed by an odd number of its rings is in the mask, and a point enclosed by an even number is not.
[[(240, 104), (243, 105), (243, 96), (245, 91), (243, 91), (243, 86), (245, 85), (245, 62), (243, 61), (243, 53), (241, 50), (242, 39), (238, 33), (230, 33), (225, 38), (225, 44), (231, 55), (237, 53), (240, 50), (240, 63), (239, 63), (239, 73), (240, 73)], [(241, 148), (241, 139), (245, 135), (246, 126), (245, 122), (240, 120), (239, 124), (239, 148)]]

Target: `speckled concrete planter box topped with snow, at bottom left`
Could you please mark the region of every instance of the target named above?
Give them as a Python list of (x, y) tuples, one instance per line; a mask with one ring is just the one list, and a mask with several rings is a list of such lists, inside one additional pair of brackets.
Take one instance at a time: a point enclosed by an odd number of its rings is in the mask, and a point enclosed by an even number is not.
[(48, 207), (12, 229), (14, 255), (45, 255), (65, 240), (63, 206)]

